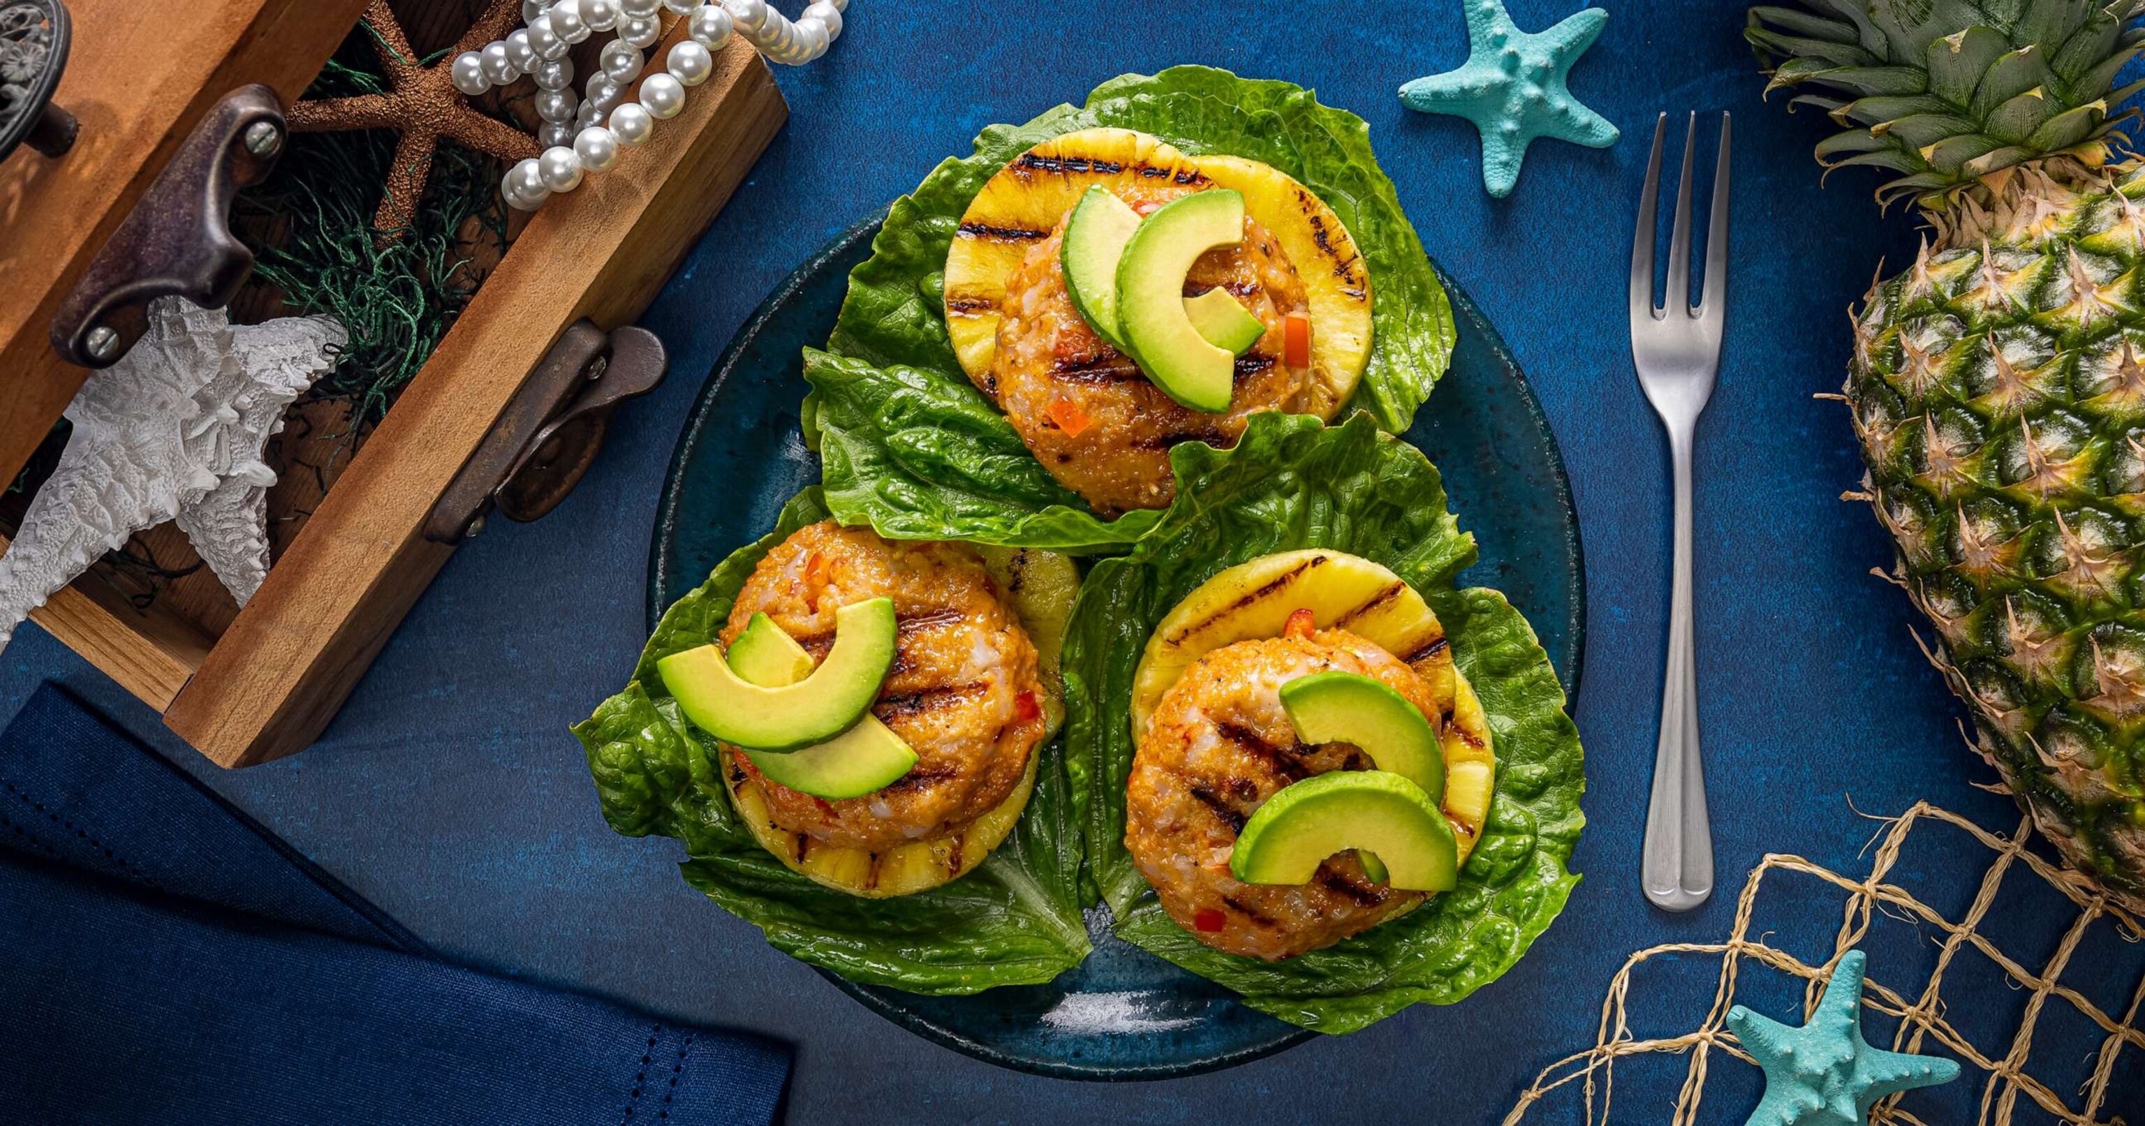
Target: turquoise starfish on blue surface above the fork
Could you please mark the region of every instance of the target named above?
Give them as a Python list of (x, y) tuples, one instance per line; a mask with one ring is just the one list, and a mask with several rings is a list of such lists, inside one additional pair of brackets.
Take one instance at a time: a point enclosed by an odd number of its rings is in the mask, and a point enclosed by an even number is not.
[(1482, 133), (1482, 187), (1502, 199), (1512, 195), (1519, 163), (1536, 137), (1587, 148), (1615, 144), (1615, 127), (1564, 88), (1564, 75), (1607, 24), (1607, 11), (1587, 9), (1547, 32), (1527, 34), (1506, 15), (1504, 0), (1467, 0), (1467, 62), (1401, 86), (1401, 103), (1476, 122)]

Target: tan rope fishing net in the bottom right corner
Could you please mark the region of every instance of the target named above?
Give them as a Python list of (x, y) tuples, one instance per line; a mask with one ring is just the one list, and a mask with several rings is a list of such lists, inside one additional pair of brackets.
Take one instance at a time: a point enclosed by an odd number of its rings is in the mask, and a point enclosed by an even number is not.
[[(1873, 839), (1877, 849), (1868, 875), (1858, 879), (1800, 856), (1767, 854), (1744, 881), (1727, 942), (1669, 944), (1630, 954), (1609, 982), (1594, 1047), (1544, 1068), (1504, 1126), (1525, 1122), (1538, 1105), (1568, 1107), (1572, 1100), (1583, 1102), (1589, 1126), (1609, 1126), (1617, 1062), (1628, 1068), (1637, 1066), (1632, 1057), (1647, 1055), (1684, 1057), (1682, 1087), (1667, 1120), (1671, 1126), (1697, 1124), (1707, 1079), (1718, 1090), (1725, 1072), (1742, 1072), (1727, 1081), (1746, 1094), (1742, 1102), (1735, 1096), (1716, 1102), (1750, 1107), (1759, 1072), (1725, 1027), (1729, 1008), (1744, 1004), (1785, 1019), (1782, 999), (1761, 995), (1800, 987), (1802, 1014), (1789, 1021), (1800, 1023), (1817, 1010), (1840, 954), (1877, 939), (1885, 939), (1885, 950), (1870, 952), (1862, 997), (1870, 1044), (1950, 1055), (1963, 1064), (1963, 1075), (1950, 1085), (1952, 1105), (1937, 1102), (1946, 1087), (1905, 1092), (1877, 1102), (1873, 1124), (1956, 1126), (1978, 1107), (1976, 1126), (2145, 1126), (2145, 1032), (2139, 1027), (2145, 1014), (2145, 924), (2076, 873), (2033, 851), (2029, 819), (2006, 839), (1920, 802), (1885, 824)], [(1956, 875), (1937, 875), (1918, 858), (1903, 860), (1915, 843), (1930, 847), (1937, 843), (1930, 836), (1952, 832), (1991, 854), (1988, 866), (1963, 886)], [(1941, 845), (1967, 847), (1961, 841)], [(1956, 864), (1941, 869), (1956, 871)], [(1845, 897), (1838, 929), (1830, 942), (1802, 950), (1815, 961), (1789, 952), (1793, 944), (1767, 927), (1772, 920), (1808, 918), (1815, 905), (1836, 897)], [(1667, 989), (1652, 978), (1665, 972), (1658, 967), (1710, 965), (1714, 959), (1712, 1004), (1697, 1029), (1669, 1036), (1634, 1032), (1634, 1023), (1652, 1023), (1652, 1010), (1660, 1008), (1650, 997)], [(2124, 967), (2109, 972), (2115, 963)], [(2010, 989), (1995, 987), (1999, 978)], [(1900, 987), (1911, 980), (1920, 984)], [(1703, 989), (1692, 997), (1703, 999)], [(1634, 1010), (1645, 1010), (1645, 1017), (1634, 1019)], [(1688, 1027), (1684, 1012), (1680, 1019)], [(1888, 1044), (1879, 1038), (1883, 1025), (1892, 1025)], [(2066, 1044), (2061, 1051), (2048, 1047), (2057, 1038)], [(1750, 1066), (1720, 1068), (1722, 1060)], [(1628, 1113), (1617, 1122), (1665, 1120), (1665, 1107), (1630, 1102), (1626, 1098)], [(1557, 1117), (1577, 1120), (1568, 1111)], [(1707, 1122), (1740, 1120), (1714, 1111)]]

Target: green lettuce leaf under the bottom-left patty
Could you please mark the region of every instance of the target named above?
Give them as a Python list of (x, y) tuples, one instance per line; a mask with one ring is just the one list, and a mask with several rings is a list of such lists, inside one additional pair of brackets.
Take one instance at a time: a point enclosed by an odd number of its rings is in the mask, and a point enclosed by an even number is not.
[(626, 688), (575, 725), (603, 819), (626, 836), (678, 839), (686, 884), (759, 927), (776, 950), (854, 982), (912, 993), (1047, 982), (1088, 957), (1081, 832), (1062, 740), (1036, 751), (1027, 811), (976, 871), (920, 894), (858, 899), (789, 871), (753, 841), (716, 774), (714, 740), (678, 714), (654, 673), (659, 658), (714, 639), (759, 560), (826, 517), (819, 489), (796, 495), (768, 536), (734, 551), (663, 613)]

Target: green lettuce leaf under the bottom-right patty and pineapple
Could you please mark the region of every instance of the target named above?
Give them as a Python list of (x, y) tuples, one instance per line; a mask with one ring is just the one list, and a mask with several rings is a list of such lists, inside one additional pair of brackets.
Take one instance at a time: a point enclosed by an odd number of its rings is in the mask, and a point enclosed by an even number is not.
[[(1448, 1004), (1504, 974), (1564, 909), (1585, 819), (1579, 731), (1527, 626), (1493, 590), (1454, 590), (1474, 538), (1437, 470), (1366, 416), (1336, 427), (1263, 414), (1233, 450), (1173, 450), (1178, 500), (1128, 555), (1098, 562), (1066, 628), (1066, 746), (1088, 864), (1118, 933), (1319, 1032), (1356, 1032), (1416, 1002)], [(1489, 714), (1497, 796), (1461, 886), (1347, 942), (1281, 963), (1201, 946), (1163, 914), (1124, 849), (1135, 658), (1163, 616), (1214, 573), (1332, 547), (1390, 566), (1437, 609)]]

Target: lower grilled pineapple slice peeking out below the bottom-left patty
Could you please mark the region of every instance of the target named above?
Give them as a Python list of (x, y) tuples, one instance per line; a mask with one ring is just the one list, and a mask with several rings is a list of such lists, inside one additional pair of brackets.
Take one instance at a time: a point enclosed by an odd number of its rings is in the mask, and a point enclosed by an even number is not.
[(727, 768), (727, 764), (723, 785), (729, 787), (729, 802), (738, 811), (738, 817), (744, 817), (759, 847), (774, 854), (789, 871), (804, 873), (813, 884), (824, 884), (837, 892), (888, 899), (937, 888), (982, 864), (991, 856), (991, 849), (1012, 832), (1012, 824), (1021, 819), (1021, 811), (1027, 809), (1027, 796), (1036, 789), (1036, 761), (1040, 759), (1042, 749), (1036, 746), (1036, 753), (1027, 755), (1027, 772), (1021, 774), (1021, 785), (1012, 787), (1012, 794), (997, 809), (978, 817), (976, 824), (948, 836), (924, 836), (892, 851), (824, 845), (776, 826), (768, 819), (768, 800), (759, 794), (759, 783), (742, 770)]

